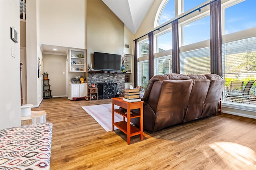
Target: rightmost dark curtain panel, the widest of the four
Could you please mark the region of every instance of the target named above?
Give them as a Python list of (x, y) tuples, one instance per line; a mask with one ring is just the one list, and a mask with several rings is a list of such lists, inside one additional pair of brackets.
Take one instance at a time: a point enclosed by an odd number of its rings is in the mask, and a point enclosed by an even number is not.
[(210, 62), (211, 73), (222, 76), (222, 39), (221, 39), (221, 3), (216, 0), (210, 4), (211, 37)]

